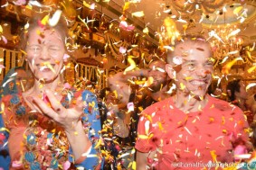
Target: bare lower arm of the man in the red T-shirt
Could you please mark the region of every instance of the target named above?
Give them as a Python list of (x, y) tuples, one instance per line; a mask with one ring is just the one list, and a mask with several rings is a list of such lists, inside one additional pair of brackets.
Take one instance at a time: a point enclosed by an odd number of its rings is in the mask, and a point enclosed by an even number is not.
[(137, 150), (136, 154), (136, 169), (137, 170), (147, 170), (147, 158), (153, 161), (156, 150), (150, 153), (143, 153)]

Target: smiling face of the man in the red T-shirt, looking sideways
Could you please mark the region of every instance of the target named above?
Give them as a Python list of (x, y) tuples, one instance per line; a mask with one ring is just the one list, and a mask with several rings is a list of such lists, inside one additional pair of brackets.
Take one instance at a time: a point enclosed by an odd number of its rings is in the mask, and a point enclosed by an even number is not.
[[(185, 95), (204, 97), (212, 82), (211, 49), (204, 43), (184, 42), (175, 48), (174, 64), (167, 72), (175, 79), (177, 91)], [(170, 68), (173, 72), (168, 71)]]

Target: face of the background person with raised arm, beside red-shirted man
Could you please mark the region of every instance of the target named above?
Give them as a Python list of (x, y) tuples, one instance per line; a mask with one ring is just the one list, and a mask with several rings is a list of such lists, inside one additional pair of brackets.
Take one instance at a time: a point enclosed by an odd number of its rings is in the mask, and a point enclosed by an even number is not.
[(149, 88), (153, 92), (157, 92), (161, 89), (163, 85), (166, 84), (166, 70), (165, 64), (163, 62), (154, 61), (149, 65), (148, 76), (153, 78), (153, 83), (149, 85)]

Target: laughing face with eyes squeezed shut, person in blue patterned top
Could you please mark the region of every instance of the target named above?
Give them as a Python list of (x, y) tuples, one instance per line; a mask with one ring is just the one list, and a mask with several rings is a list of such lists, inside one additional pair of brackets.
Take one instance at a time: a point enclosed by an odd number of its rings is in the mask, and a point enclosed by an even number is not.
[(33, 75), (44, 81), (52, 81), (59, 76), (65, 54), (60, 31), (35, 27), (29, 31), (27, 43), (25, 51)]

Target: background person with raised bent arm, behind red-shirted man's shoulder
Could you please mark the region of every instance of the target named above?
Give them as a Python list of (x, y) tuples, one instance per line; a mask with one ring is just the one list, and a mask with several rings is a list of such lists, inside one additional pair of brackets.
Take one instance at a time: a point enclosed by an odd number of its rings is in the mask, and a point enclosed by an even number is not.
[(166, 62), (158, 59), (152, 61), (148, 69), (119, 72), (109, 77), (109, 87), (112, 92), (118, 94), (120, 103), (129, 103), (132, 106), (127, 107), (133, 107), (128, 112), (131, 114), (130, 145), (132, 146), (137, 137), (137, 121), (141, 110), (170, 95), (166, 93), (169, 90), (170, 79), (166, 74), (165, 66)]

